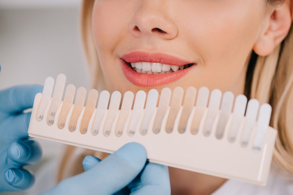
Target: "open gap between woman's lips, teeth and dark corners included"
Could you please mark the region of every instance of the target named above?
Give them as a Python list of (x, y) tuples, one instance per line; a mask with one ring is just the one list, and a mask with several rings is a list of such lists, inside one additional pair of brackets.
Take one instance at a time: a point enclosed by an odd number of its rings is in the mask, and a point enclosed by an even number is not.
[(131, 67), (137, 73), (146, 73), (146, 74), (168, 74), (173, 72), (178, 72), (183, 69), (187, 69), (194, 65), (193, 63), (186, 65), (168, 65), (158, 62), (126, 62), (125, 63)]

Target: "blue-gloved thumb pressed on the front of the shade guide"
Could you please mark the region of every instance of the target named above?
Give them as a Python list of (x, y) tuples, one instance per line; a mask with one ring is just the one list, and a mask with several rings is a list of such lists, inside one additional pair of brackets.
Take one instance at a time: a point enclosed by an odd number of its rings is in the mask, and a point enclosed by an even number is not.
[(63, 180), (45, 194), (114, 194), (139, 174), (146, 160), (142, 145), (125, 144), (97, 166)]

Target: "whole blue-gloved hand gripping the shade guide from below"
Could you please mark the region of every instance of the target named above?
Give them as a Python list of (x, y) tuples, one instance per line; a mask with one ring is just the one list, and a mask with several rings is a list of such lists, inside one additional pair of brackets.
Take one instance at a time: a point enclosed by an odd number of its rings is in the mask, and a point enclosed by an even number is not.
[(168, 167), (147, 162), (144, 147), (128, 143), (103, 161), (86, 156), (86, 172), (61, 181), (49, 194), (171, 194)]

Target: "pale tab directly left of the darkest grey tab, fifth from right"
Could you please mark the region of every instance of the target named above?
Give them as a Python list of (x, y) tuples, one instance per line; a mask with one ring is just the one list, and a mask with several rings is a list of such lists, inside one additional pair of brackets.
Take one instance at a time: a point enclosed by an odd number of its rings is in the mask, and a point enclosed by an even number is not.
[(209, 98), (209, 107), (207, 110), (207, 117), (205, 119), (205, 126), (203, 133), (205, 136), (209, 136), (212, 132), (212, 126), (214, 120), (218, 114), (220, 102), (222, 98), (222, 92), (219, 89), (212, 90), (211, 97)]

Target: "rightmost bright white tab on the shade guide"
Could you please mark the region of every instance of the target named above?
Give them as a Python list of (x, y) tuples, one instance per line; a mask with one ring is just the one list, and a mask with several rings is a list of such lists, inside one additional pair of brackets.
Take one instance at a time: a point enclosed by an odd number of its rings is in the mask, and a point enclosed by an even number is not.
[(270, 124), (271, 114), (272, 107), (269, 104), (265, 103), (260, 106), (253, 144), (253, 150), (256, 152), (262, 147), (263, 139)]

